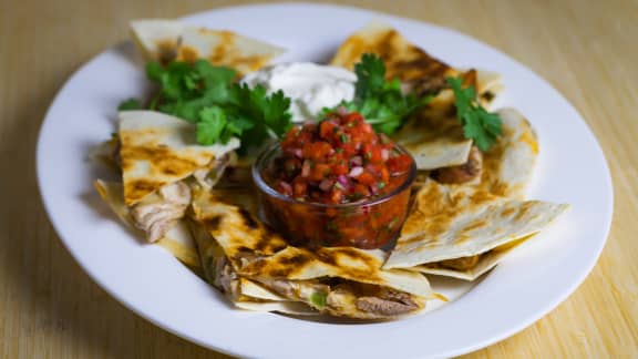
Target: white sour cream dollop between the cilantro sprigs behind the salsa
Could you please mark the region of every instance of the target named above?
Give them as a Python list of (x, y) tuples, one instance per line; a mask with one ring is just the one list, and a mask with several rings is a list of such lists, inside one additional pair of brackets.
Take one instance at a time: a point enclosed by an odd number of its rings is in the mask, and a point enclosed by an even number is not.
[(342, 68), (312, 62), (277, 64), (249, 73), (241, 82), (263, 85), (268, 94), (282, 90), (291, 99), (294, 122), (315, 119), (323, 107), (332, 107), (354, 96), (357, 75)]

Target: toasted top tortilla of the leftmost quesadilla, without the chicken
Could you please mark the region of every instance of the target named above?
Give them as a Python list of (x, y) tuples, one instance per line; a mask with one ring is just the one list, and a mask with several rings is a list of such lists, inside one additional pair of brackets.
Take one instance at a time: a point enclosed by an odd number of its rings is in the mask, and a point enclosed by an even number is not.
[(200, 145), (195, 126), (154, 111), (120, 112), (120, 157), (124, 198), (131, 206), (161, 187), (212, 168), (214, 160), (239, 147), (239, 140), (227, 144)]

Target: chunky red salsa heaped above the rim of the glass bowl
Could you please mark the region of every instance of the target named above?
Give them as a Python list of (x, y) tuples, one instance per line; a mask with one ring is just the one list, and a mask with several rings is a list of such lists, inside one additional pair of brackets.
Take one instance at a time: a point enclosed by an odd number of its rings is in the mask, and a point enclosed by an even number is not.
[(275, 188), (298, 201), (344, 204), (400, 186), (412, 158), (395, 151), (359, 113), (295, 126), (281, 141)]

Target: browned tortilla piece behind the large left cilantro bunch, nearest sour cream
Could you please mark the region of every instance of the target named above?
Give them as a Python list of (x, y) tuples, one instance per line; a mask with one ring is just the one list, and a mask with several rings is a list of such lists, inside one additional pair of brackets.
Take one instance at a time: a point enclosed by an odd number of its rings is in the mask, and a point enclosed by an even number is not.
[(281, 53), (281, 48), (230, 31), (187, 27), (182, 33), (177, 60), (194, 62), (206, 59), (214, 65), (233, 68), (246, 74), (261, 69)]

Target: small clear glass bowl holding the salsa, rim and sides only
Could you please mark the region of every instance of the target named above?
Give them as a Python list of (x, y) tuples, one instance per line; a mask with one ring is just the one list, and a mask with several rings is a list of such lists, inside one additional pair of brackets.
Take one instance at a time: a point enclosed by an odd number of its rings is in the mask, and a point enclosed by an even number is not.
[[(399, 145), (394, 151), (408, 154)], [(410, 170), (398, 176), (402, 182), (390, 193), (353, 203), (322, 204), (286, 196), (270, 186), (267, 172), (280, 154), (279, 143), (266, 147), (253, 164), (253, 178), (259, 189), (260, 209), (266, 220), (292, 245), (373, 249), (390, 245), (398, 237), (416, 175), (411, 156)]]

